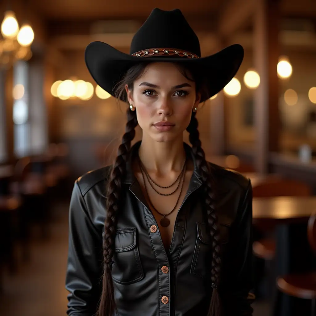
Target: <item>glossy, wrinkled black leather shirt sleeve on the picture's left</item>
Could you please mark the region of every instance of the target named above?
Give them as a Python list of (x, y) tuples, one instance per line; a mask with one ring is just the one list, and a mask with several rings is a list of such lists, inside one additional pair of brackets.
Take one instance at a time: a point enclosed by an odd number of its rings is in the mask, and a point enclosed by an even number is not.
[(92, 316), (96, 313), (102, 290), (102, 261), (102, 233), (100, 235), (93, 224), (76, 181), (69, 209), (67, 315)]

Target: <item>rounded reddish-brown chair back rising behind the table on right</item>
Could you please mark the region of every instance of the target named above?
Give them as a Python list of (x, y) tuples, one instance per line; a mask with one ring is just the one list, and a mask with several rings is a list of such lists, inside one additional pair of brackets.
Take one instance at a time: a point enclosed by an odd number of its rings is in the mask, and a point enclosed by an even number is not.
[(304, 182), (280, 178), (267, 178), (253, 187), (252, 194), (253, 197), (307, 197), (312, 195), (312, 190)]

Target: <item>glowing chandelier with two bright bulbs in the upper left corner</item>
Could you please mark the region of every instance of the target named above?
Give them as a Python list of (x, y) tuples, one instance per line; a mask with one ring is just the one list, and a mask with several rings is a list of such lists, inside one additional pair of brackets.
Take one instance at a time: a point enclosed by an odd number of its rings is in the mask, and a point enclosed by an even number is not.
[(0, 69), (9, 69), (17, 60), (29, 60), (32, 57), (33, 29), (28, 23), (19, 28), (13, 11), (5, 12), (1, 34)]

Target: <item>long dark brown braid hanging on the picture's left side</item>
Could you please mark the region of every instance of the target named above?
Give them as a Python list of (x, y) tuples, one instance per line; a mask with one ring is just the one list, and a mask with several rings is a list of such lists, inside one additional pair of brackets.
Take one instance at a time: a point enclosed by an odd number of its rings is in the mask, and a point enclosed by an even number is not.
[(136, 111), (127, 109), (127, 123), (122, 143), (119, 146), (117, 157), (113, 163), (109, 181), (106, 187), (106, 220), (104, 223), (105, 234), (103, 242), (104, 274), (101, 299), (98, 307), (98, 316), (112, 316), (118, 314), (114, 298), (112, 279), (112, 257), (114, 252), (115, 228), (117, 211), (120, 208), (121, 179), (126, 173), (127, 154), (131, 148), (131, 141), (135, 137), (135, 128), (138, 125)]

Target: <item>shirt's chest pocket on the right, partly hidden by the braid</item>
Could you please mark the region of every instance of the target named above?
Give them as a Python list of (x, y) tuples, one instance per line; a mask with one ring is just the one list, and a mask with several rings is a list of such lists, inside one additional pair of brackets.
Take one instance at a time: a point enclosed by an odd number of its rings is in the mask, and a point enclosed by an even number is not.
[[(229, 239), (229, 225), (219, 224), (221, 250), (225, 249), (225, 244)], [(191, 264), (191, 273), (210, 279), (212, 260), (212, 241), (209, 233), (208, 224), (197, 223), (197, 239)]]

